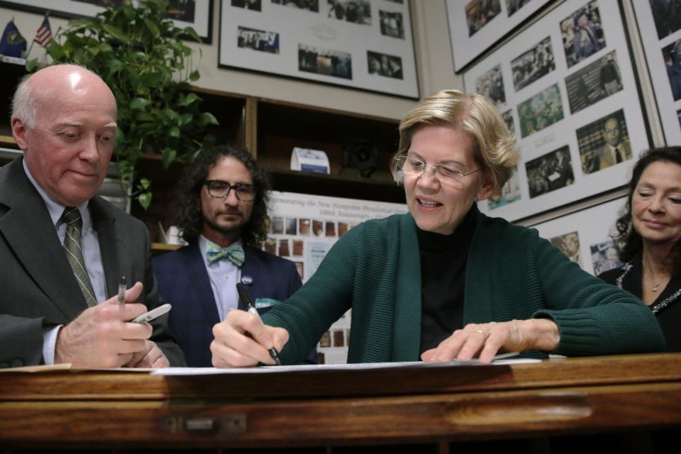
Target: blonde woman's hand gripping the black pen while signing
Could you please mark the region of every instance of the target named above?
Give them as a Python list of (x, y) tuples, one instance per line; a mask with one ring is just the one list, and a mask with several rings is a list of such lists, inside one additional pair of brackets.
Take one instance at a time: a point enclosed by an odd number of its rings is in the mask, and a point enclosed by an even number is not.
[(284, 328), (262, 323), (258, 316), (247, 311), (233, 310), (213, 327), (214, 367), (253, 367), (259, 363), (275, 365), (270, 348), (281, 351), (289, 341)]

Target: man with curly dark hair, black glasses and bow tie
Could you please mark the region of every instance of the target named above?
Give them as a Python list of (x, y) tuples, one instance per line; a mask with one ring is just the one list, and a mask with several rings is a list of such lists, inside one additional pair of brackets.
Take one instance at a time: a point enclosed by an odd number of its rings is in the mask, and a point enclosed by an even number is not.
[[(187, 247), (153, 260), (159, 292), (172, 304), (170, 328), (190, 367), (211, 367), (213, 326), (245, 309), (236, 284), (261, 313), (301, 287), (294, 262), (258, 247), (267, 237), (270, 184), (248, 150), (204, 150), (175, 195), (175, 224)], [(309, 358), (316, 362), (316, 352)]]

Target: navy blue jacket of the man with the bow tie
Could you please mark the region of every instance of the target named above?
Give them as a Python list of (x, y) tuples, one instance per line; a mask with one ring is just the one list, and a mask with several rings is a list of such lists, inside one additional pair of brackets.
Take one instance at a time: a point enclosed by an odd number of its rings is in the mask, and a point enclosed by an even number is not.
[[(284, 301), (301, 287), (296, 266), (290, 260), (248, 246), (243, 249), (241, 280), (256, 303), (259, 298)], [(154, 258), (153, 267), (159, 293), (172, 304), (170, 328), (184, 351), (187, 365), (211, 367), (213, 326), (220, 319), (199, 244), (159, 255)], [(250, 277), (250, 284), (245, 277)], [(245, 309), (241, 301), (239, 308)], [(263, 314), (269, 309), (258, 311)], [(316, 363), (316, 351), (313, 354), (309, 361), (314, 358)]]

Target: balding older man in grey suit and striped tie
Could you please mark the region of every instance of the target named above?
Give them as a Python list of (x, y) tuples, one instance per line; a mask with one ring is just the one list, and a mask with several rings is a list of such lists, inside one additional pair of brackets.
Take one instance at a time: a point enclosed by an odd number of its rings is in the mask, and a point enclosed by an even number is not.
[[(143, 223), (95, 196), (114, 149), (116, 99), (94, 73), (55, 65), (21, 82), (0, 170), (0, 367), (184, 365), (157, 306)], [(125, 302), (121, 275), (136, 282)], [(140, 302), (135, 302), (140, 301)]]

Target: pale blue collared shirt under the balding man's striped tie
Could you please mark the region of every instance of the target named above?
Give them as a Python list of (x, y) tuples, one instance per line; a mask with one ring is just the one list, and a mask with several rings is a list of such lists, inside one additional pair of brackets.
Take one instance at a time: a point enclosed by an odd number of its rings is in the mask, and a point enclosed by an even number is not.
[[(62, 214), (64, 214), (66, 207), (52, 199), (45, 192), (45, 189), (40, 187), (40, 184), (33, 179), (33, 175), (31, 175), (31, 171), (28, 170), (26, 165), (26, 160), (23, 160), (23, 171), (26, 173), (28, 181), (33, 184), (35, 190), (40, 194), (40, 198), (45, 202), (50, 218), (52, 218), (52, 223), (57, 230), (57, 236), (63, 245), (66, 236), (66, 223), (62, 220)], [(89, 201), (86, 201), (78, 206), (78, 211), (83, 220), (80, 242), (87, 275), (90, 278), (90, 282), (92, 282), (92, 289), (94, 289), (97, 302), (101, 303), (106, 301), (106, 279), (104, 279), (104, 265), (101, 262), (101, 250), (99, 250), (99, 236), (97, 236), (97, 232), (92, 228), (92, 216), (90, 216), (90, 211), (87, 209), (88, 204)], [(55, 343), (57, 342), (57, 333), (59, 333), (61, 327), (62, 325), (59, 325), (43, 330), (43, 360), (45, 364), (54, 364)]]

